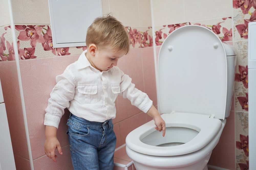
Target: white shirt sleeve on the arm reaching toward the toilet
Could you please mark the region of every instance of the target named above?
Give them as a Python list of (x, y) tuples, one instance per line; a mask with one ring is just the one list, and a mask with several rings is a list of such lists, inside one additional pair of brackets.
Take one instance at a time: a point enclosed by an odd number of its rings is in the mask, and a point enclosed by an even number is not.
[(133, 106), (136, 106), (141, 111), (146, 113), (151, 108), (153, 101), (150, 100), (146, 93), (143, 93), (141, 90), (135, 88), (135, 84), (132, 83), (132, 79), (122, 71), (121, 77), (121, 93), (119, 95), (123, 96), (123, 98), (129, 99)]

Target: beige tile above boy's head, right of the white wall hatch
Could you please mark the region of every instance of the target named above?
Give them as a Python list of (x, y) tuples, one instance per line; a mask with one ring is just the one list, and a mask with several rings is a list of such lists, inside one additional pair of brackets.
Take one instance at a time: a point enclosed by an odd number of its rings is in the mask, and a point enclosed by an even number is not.
[(137, 0), (109, 0), (110, 12), (124, 26), (140, 25)]

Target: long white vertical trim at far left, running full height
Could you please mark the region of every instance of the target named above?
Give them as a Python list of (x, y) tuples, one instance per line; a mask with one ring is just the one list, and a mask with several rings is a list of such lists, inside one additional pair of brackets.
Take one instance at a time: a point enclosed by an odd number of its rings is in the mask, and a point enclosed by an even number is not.
[(24, 119), (25, 132), (26, 132), (26, 138), (27, 138), (27, 144), (28, 144), (29, 162), (30, 162), (31, 170), (34, 170), (32, 151), (31, 151), (30, 139), (29, 139), (29, 133), (28, 133), (28, 122), (27, 122), (24, 94), (23, 94), (20, 67), (19, 67), (19, 52), (18, 52), (18, 45), (17, 45), (17, 41), (16, 41), (16, 35), (15, 35), (15, 26), (14, 26), (14, 21), (13, 21), (13, 10), (12, 10), (11, 0), (8, 0), (8, 6), (9, 6), (9, 12), (10, 12), (11, 30), (12, 30), (12, 35), (13, 35), (13, 48), (14, 48), (15, 61), (16, 61), (16, 67), (17, 67), (17, 73), (18, 73), (18, 82), (19, 82), (19, 91), (20, 91), (23, 119)]

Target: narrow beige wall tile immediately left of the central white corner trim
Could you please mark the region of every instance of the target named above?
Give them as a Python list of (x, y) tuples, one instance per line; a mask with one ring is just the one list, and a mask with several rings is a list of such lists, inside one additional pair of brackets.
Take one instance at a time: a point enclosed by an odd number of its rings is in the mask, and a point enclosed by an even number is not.
[(140, 14), (140, 26), (151, 27), (151, 9), (149, 0), (138, 0), (139, 14)]

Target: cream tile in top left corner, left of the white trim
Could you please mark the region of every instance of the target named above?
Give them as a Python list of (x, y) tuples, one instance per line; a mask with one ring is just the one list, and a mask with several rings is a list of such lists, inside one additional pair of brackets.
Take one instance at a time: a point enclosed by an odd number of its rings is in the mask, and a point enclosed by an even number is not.
[(8, 0), (0, 1), (0, 27), (11, 24)]

